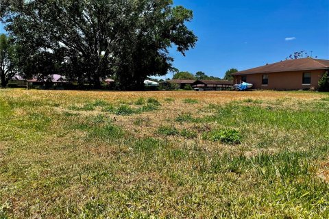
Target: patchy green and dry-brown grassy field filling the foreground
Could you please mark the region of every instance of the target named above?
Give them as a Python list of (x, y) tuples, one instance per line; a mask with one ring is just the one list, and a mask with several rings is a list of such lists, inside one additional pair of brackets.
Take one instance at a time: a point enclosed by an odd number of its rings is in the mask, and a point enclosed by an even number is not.
[(0, 218), (329, 218), (329, 94), (0, 90)]

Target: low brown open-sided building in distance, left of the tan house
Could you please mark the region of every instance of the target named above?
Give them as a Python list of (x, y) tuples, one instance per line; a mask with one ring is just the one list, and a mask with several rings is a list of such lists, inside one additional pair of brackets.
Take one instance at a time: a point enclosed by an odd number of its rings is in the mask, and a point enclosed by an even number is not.
[(192, 83), (194, 90), (230, 90), (233, 86), (233, 81), (227, 80), (197, 80)]

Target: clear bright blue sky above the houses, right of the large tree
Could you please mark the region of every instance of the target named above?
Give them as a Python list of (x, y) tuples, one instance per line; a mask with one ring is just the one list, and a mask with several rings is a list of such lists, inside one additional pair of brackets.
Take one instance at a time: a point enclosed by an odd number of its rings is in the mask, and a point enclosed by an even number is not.
[(194, 19), (187, 25), (199, 37), (197, 46), (186, 57), (171, 50), (175, 67), (182, 71), (202, 70), (222, 77), (229, 68), (244, 70), (279, 62), (302, 50), (329, 59), (328, 0), (174, 0), (174, 3), (193, 10)]

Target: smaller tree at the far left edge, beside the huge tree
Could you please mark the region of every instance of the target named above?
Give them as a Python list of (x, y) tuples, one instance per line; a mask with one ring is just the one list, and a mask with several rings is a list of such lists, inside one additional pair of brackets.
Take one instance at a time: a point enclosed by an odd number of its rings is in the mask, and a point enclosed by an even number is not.
[(0, 35), (0, 81), (1, 87), (5, 88), (8, 81), (16, 74), (15, 46), (11, 38)]

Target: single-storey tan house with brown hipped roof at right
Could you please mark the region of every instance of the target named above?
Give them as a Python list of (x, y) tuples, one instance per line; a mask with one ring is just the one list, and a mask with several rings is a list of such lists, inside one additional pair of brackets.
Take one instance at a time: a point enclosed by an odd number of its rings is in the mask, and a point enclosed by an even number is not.
[(307, 57), (267, 64), (233, 73), (234, 83), (254, 84), (255, 89), (308, 90), (317, 89), (319, 79), (329, 70), (329, 60)]

